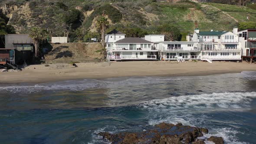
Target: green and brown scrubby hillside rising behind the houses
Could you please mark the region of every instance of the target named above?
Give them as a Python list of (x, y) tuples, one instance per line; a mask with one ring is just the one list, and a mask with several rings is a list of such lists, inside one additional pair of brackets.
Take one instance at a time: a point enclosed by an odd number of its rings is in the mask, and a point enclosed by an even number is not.
[(201, 30), (231, 30), (239, 22), (256, 21), (256, 10), (219, 3), (177, 3), (157, 0), (3, 0), (1, 9), (10, 17), (8, 24), (17, 33), (27, 33), (32, 26), (48, 29), (52, 36), (78, 37), (82, 27), (87, 35), (95, 35), (96, 18), (108, 17), (113, 28), (158, 34), (164, 24), (176, 26), (181, 33), (191, 33), (195, 22)]

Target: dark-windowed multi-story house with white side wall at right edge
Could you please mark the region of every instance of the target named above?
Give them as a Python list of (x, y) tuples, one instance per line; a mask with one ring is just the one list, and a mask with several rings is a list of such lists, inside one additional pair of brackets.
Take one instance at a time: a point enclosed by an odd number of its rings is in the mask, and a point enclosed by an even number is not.
[(256, 58), (256, 29), (245, 29), (238, 32), (243, 49), (243, 58)]

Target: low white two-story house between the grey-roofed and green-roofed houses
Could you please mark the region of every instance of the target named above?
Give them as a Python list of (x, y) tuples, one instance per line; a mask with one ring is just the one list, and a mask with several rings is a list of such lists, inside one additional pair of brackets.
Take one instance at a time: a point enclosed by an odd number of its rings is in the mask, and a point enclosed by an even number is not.
[(200, 48), (197, 42), (161, 41), (155, 42), (160, 50), (161, 60), (200, 59)]

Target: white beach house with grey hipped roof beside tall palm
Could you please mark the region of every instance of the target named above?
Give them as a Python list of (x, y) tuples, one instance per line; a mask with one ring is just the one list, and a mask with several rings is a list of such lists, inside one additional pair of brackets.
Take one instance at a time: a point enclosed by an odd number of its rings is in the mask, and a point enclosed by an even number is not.
[(146, 35), (144, 38), (125, 37), (125, 33), (112, 30), (105, 35), (107, 58), (122, 60), (156, 60), (158, 50), (154, 42), (163, 41), (164, 35)]

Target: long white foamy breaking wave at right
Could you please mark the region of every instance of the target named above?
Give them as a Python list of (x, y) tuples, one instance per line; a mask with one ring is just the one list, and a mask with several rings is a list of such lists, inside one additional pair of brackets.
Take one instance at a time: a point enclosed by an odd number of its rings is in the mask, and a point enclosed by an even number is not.
[(183, 95), (155, 99), (140, 103), (138, 107), (154, 111), (183, 110), (189, 108), (241, 108), (248, 107), (256, 92), (223, 92), (201, 95)]

